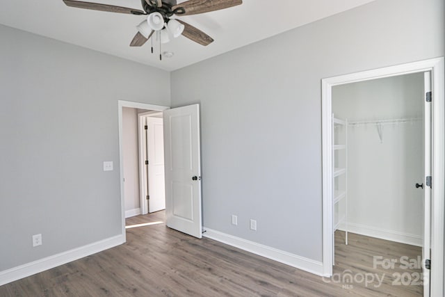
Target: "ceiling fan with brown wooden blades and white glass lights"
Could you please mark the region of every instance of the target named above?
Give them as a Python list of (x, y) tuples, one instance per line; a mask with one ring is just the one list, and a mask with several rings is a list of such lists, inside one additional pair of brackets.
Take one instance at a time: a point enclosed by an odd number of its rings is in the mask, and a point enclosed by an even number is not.
[[(147, 19), (137, 26), (138, 33), (131, 40), (131, 47), (140, 47), (156, 32), (160, 42), (168, 42), (170, 36), (186, 38), (207, 46), (213, 42), (206, 33), (179, 19), (171, 19), (173, 15), (197, 15), (210, 11), (221, 10), (243, 3), (243, 0), (188, 0), (177, 4), (177, 0), (141, 0), (143, 10), (112, 6), (101, 3), (63, 0), (67, 6), (102, 10), (111, 13), (129, 13), (131, 15), (147, 15)], [(153, 52), (153, 48), (152, 48)]]

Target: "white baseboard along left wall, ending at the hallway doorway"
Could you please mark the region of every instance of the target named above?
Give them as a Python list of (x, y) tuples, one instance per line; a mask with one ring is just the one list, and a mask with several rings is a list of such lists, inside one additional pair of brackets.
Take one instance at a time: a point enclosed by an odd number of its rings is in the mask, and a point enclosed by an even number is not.
[(96, 252), (102, 252), (102, 250), (119, 246), (124, 242), (125, 236), (120, 234), (118, 236), (110, 237), (109, 239), (104, 239), (102, 241), (90, 243), (86, 246), (81, 246), (80, 248), (60, 252), (59, 254), (39, 259), (34, 262), (26, 263), (5, 271), (0, 271), (0, 286), (3, 284), (8, 284), (8, 282), (26, 278), (27, 276), (35, 273), (40, 273), (56, 266), (72, 262), (76, 259), (81, 259), (83, 257), (95, 254)]

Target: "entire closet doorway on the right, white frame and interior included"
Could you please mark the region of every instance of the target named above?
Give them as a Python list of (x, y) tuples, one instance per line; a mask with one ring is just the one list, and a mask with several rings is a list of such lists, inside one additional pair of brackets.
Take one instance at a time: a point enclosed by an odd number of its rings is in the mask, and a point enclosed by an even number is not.
[(444, 177), (443, 78), (439, 58), (323, 79), (325, 276), (357, 254), (360, 273), (442, 296), (444, 185), (430, 176)]

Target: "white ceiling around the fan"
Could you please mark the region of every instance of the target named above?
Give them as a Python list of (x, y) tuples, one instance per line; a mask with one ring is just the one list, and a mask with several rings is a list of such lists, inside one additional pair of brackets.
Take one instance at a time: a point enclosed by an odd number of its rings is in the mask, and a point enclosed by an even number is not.
[[(140, 0), (90, 1), (142, 10)], [(163, 70), (177, 70), (371, 1), (374, 0), (244, 0), (241, 6), (178, 17), (215, 41), (203, 47), (180, 36), (162, 46), (162, 51), (175, 53), (163, 61), (159, 61), (159, 48), (155, 47), (155, 54), (151, 54), (150, 41), (140, 48), (129, 47), (136, 25), (144, 19), (141, 15), (71, 8), (62, 0), (8, 0), (1, 1), (0, 24)]]

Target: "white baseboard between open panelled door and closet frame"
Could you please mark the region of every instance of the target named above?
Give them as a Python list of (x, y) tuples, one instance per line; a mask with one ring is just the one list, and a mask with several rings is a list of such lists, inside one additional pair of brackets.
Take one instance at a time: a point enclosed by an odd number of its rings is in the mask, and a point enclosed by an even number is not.
[(260, 243), (254, 241), (248, 241), (236, 236), (225, 234), (216, 230), (211, 230), (204, 227), (205, 232), (202, 236), (222, 243), (228, 244), (229, 246), (234, 246), (236, 248), (241, 248), (241, 250), (247, 250), (255, 255), (266, 257), (268, 259), (273, 259), (277, 262), (310, 272), (316, 275), (323, 275), (323, 263), (308, 259), (305, 257), (300, 257), (298, 255), (293, 255), (290, 252), (284, 252), (283, 250), (277, 250), (276, 248), (271, 248), (270, 246), (264, 246)]

